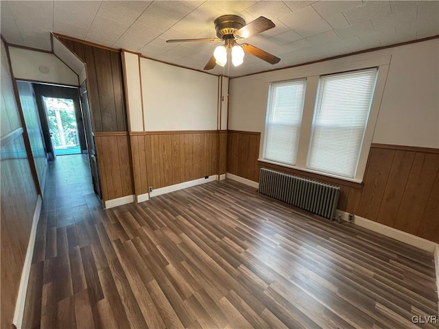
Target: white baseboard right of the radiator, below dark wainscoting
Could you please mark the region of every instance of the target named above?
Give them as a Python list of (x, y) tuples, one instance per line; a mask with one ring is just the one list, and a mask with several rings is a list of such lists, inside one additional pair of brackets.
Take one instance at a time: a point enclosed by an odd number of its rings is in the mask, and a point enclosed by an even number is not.
[[(342, 220), (348, 221), (348, 212), (337, 209), (337, 216), (339, 214), (342, 215)], [(438, 243), (434, 243), (432, 241), (420, 238), (419, 236), (410, 233), (396, 230), (396, 228), (390, 228), (390, 226), (385, 226), (381, 223), (371, 221), (370, 219), (366, 219), (358, 215), (354, 216), (354, 223), (357, 226), (361, 226), (361, 228), (367, 228), (368, 230), (371, 230), (373, 232), (377, 232), (392, 239), (407, 243), (407, 245), (412, 245), (413, 247), (423, 249), (426, 252), (434, 253), (436, 248), (438, 247)]]

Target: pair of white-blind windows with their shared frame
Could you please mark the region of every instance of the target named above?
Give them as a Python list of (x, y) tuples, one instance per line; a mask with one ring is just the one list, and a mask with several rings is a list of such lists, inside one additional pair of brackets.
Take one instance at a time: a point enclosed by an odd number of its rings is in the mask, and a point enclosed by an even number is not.
[(379, 67), (270, 84), (262, 161), (361, 182), (388, 65)]

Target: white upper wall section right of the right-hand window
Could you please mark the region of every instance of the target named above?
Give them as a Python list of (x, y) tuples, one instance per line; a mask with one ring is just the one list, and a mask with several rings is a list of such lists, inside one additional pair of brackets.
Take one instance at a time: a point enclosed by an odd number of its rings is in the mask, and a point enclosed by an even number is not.
[(439, 147), (439, 40), (388, 49), (373, 143)]

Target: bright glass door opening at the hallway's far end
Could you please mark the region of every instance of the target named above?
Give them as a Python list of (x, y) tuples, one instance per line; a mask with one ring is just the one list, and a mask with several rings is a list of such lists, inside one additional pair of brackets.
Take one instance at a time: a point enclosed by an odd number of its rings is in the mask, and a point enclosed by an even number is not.
[(81, 153), (73, 99), (43, 96), (54, 155)]

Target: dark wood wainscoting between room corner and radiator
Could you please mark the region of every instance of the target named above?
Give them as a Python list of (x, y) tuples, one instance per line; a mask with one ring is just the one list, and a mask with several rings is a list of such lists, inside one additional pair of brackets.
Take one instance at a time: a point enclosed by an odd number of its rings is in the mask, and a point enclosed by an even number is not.
[(227, 133), (227, 172), (259, 182), (259, 141), (260, 132)]

